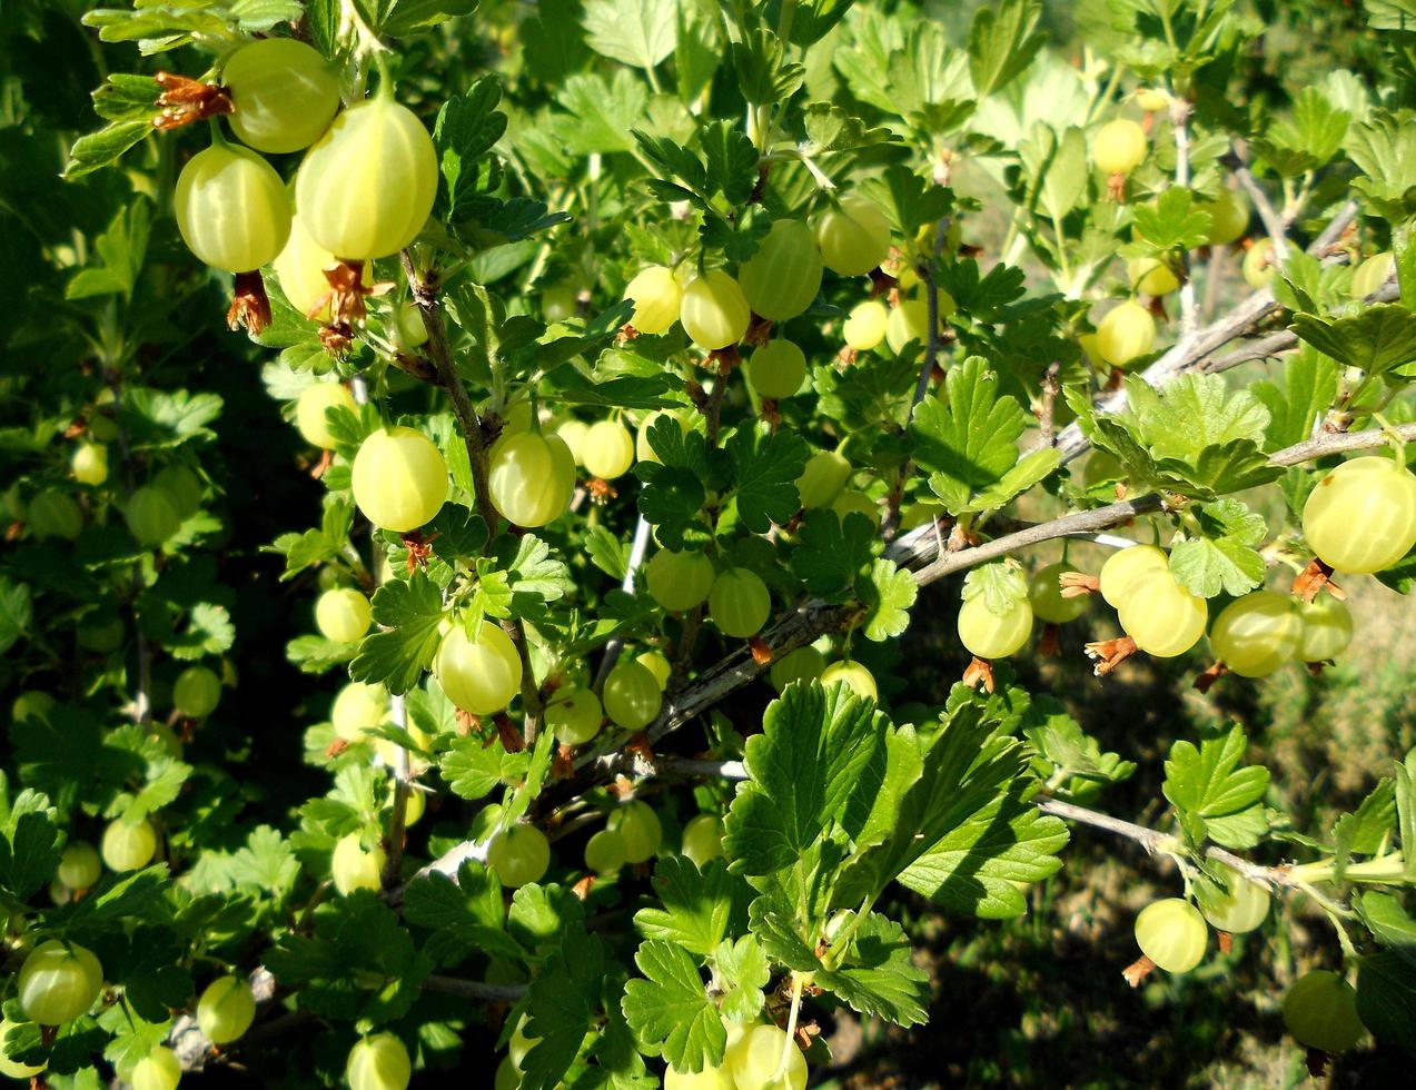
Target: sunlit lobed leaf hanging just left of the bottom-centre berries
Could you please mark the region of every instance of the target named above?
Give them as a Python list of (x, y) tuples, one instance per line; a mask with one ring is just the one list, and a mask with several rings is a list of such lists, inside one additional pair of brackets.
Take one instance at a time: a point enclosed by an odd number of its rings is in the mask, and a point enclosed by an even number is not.
[(722, 1063), (728, 1033), (688, 951), (647, 939), (640, 943), (634, 964), (644, 980), (624, 985), (622, 1009), (640, 1040), (657, 1046), (681, 1072)]

